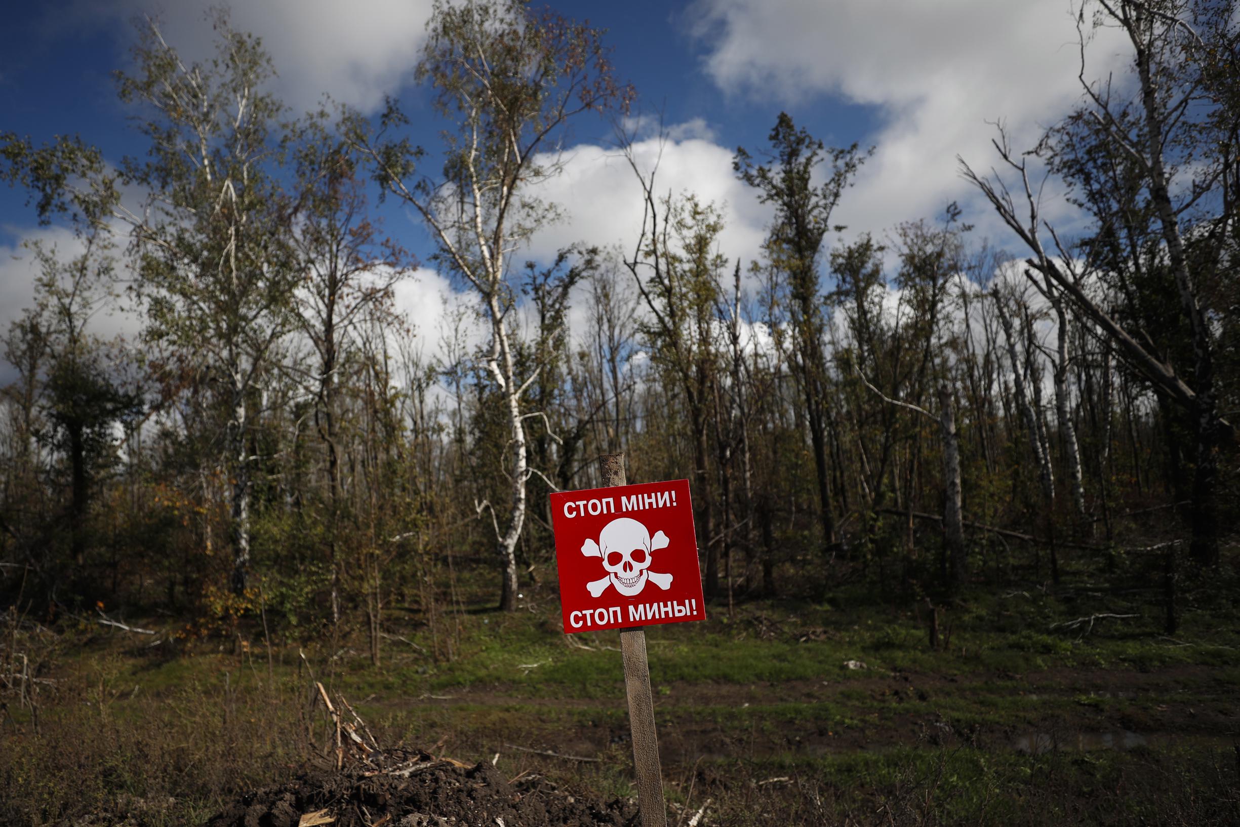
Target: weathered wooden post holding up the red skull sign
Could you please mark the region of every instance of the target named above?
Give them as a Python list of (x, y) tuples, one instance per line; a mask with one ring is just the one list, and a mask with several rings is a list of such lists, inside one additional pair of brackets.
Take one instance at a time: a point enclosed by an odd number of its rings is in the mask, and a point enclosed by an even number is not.
[[(625, 485), (624, 454), (599, 458), (603, 485)], [(629, 696), (629, 728), (632, 733), (632, 763), (637, 775), (637, 810), (642, 827), (667, 827), (663, 774), (658, 764), (658, 735), (655, 733), (655, 698), (650, 692), (646, 662), (646, 632), (641, 626), (620, 630), (624, 684)]]

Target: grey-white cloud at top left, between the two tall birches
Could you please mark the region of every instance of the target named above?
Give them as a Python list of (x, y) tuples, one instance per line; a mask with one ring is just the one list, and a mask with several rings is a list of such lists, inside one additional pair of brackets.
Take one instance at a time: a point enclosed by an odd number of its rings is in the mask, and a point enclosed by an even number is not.
[[(77, 0), (78, 25), (135, 15), (161, 21), (167, 41), (191, 60), (212, 53), (206, 20), (215, 0)], [(294, 110), (317, 105), (324, 93), (363, 112), (396, 93), (417, 66), (430, 17), (429, 0), (247, 0), (234, 2), (234, 27), (263, 38), (279, 72), (277, 91)]]

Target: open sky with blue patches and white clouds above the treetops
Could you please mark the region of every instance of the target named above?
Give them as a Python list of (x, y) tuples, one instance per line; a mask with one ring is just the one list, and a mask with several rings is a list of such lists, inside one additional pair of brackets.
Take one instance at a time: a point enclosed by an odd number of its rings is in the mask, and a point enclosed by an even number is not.
[[(110, 73), (125, 63), (130, 20), (155, 12), (170, 42), (190, 57), (211, 43), (206, 0), (53, 0), (10, 10), (0, 33), (0, 130), (50, 140), (77, 133), (118, 161), (143, 151), (126, 124)], [(405, 102), (414, 139), (434, 141), (438, 124), (412, 87), (428, 0), (252, 0), (233, 22), (255, 31), (273, 55), (277, 92), (294, 109), (322, 92), (373, 112), (384, 94)], [(841, 203), (849, 234), (884, 234), (903, 221), (936, 218), (951, 201), (965, 219), (1001, 243), (1007, 236), (960, 180), (956, 155), (993, 160), (987, 120), (1003, 119), (1017, 148), (1076, 102), (1078, 50), (1069, 0), (693, 0), (557, 2), (558, 11), (609, 30), (618, 74), (637, 88), (641, 112), (663, 114), (673, 141), (661, 188), (692, 190), (725, 205), (723, 252), (758, 255), (769, 216), (735, 181), (738, 145), (761, 149), (780, 110), (831, 145), (858, 141), (875, 154)], [(1107, 68), (1106, 43), (1096, 71)], [(1091, 67), (1094, 68), (1094, 67)], [(611, 244), (640, 222), (636, 184), (601, 146), (610, 129), (578, 123), (560, 180), (546, 197), (570, 222), (532, 242), (542, 257), (569, 242)], [(645, 157), (653, 157), (653, 145)], [(387, 211), (388, 229), (423, 258), (424, 236)], [(1054, 217), (1052, 214), (1050, 217)], [(35, 226), (25, 193), (0, 188), (0, 326), (29, 299), (20, 244), (52, 238)], [(428, 276), (429, 278), (429, 276)], [(444, 284), (428, 289), (444, 291)], [(409, 296), (413, 304), (425, 304)]]

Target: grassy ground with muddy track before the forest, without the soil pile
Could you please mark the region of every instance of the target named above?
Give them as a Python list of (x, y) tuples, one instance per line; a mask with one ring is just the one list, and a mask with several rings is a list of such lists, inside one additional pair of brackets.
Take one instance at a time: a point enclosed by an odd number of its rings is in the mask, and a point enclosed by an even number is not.
[[(175, 651), (157, 619), (140, 625), (159, 646), (16, 630), (14, 651), (41, 652), (55, 683), (38, 684), (33, 710), (5, 698), (0, 822), (201, 822), (325, 760), (312, 678), (381, 743), (631, 795), (618, 635), (567, 639), (553, 585), (507, 615), (482, 586), (434, 627), (394, 608), (378, 668), (361, 637), (268, 650), (258, 626), (244, 643)], [(1097, 614), (1137, 616), (1055, 625)], [(940, 611), (937, 650), (928, 620), (838, 593), (650, 627), (673, 812), (709, 801), (712, 825), (1240, 821), (1234, 605), (1198, 606), (1168, 637), (1157, 606), (1105, 591), (976, 593)], [(91, 812), (107, 817), (82, 821)]]

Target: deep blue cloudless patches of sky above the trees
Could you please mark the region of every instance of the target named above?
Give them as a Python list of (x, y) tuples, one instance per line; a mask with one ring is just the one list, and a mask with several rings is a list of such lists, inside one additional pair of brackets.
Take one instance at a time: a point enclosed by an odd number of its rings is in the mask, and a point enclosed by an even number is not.
[[(98, 6), (91, 11), (84, 4), (71, 2), (27, 4), (16, 10), (2, 35), (0, 112), (4, 113), (4, 129), (36, 140), (56, 134), (81, 134), (112, 160), (141, 151), (141, 139), (134, 134), (126, 122), (126, 109), (115, 98), (112, 73), (125, 66), (133, 14), (149, 9), (167, 17), (169, 11), (167, 6), (160, 11), (160, 4), (112, 5), (114, 11), (110, 12)], [(198, 6), (196, 10), (201, 14), (206, 4), (187, 5)], [(794, 105), (779, 95), (729, 93), (720, 88), (707, 71), (709, 40), (694, 31), (699, 15), (691, 4), (577, 1), (558, 2), (553, 7), (608, 30), (606, 42), (614, 48), (616, 74), (634, 83), (644, 113), (662, 113), (665, 122), (673, 125), (704, 122), (709, 133), (729, 149), (761, 146), (785, 108), (815, 135), (828, 144), (842, 145), (867, 140), (882, 117), (880, 107), (852, 103), (839, 95), (813, 95)], [(192, 20), (192, 15), (181, 12), (175, 19)], [(410, 42), (410, 66), (415, 51), (417, 43)], [(285, 76), (295, 68), (277, 66)], [(412, 112), (418, 112), (423, 95), (412, 83), (384, 92), (399, 94)], [(312, 103), (306, 94), (293, 97), (304, 104)], [(423, 141), (433, 144), (436, 125), (427, 125), (429, 128), (415, 131)], [(585, 143), (611, 138), (610, 128), (601, 120), (580, 122), (574, 134)], [(30, 223), (24, 200), (21, 192), (0, 191), (0, 241), (11, 243)]]

